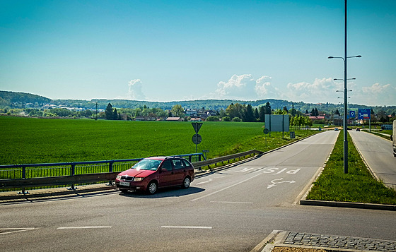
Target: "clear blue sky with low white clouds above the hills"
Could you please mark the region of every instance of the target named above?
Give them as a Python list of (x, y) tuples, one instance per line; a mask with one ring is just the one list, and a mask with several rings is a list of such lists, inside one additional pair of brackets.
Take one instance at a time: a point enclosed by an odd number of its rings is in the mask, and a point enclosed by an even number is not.
[[(348, 102), (395, 106), (396, 1), (347, 3)], [(328, 56), (343, 0), (0, 0), (0, 90), (51, 99), (337, 104)]]

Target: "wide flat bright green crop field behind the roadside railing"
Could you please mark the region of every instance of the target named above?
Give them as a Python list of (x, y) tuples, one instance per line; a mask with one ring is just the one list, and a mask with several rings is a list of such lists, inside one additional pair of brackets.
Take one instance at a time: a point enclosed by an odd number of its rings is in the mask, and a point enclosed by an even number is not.
[[(208, 158), (290, 143), (289, 133), (272, 133), (265, 143), (262, 123), (204, 122), (198, 152)], [(190, 122), (36, 119), (0, 116), (0, 164), (121, 160), (195, 152)], [(314, 131), (296, 131), (302, 138)]]

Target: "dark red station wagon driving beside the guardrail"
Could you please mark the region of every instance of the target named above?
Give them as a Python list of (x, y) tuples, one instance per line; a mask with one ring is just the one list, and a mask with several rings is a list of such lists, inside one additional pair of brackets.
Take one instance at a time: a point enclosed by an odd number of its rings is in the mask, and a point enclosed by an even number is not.
[(194, 180), (194, 167), (182, 157), (148, 157), (115, 179), (117, 188), (156, 193), (158, 188), (182, 186), (189, 188)]

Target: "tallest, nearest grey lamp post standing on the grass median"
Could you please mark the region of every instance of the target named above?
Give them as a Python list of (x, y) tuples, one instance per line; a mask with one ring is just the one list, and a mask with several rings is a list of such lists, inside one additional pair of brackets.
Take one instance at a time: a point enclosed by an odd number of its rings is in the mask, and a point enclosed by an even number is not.
[(344, 174), (348, 173), (348, 127), (347, 127), (347, 112), (348, 112), (348, 90), (347, 90), (347, 59), (361, 58), (361, 55), (347, 56), (347, 0), (345, 0), (345, 21), (344, 21), (344, 57), (329, 56), (328, 59), (342, 59), (344, 61)]

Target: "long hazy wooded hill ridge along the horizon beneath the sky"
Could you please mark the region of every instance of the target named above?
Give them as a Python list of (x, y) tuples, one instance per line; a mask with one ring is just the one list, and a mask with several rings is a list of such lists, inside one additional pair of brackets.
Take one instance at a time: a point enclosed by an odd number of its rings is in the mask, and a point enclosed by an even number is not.
[[(105, 99), (93, 99), (93, 100), (52, 100), (47, 97), (40, 95), (32, 95), (25, 92), (8, 92), (0, 91), (0, 109), (11, 108), (11, 109), (23, 109), (26, 107), (40, 108), (45, 104), (52, 104), (55, 106), (62, 107), (74, 107), (82, 109), (95, 109), (96, 103), (98, 103), (98, 109), (105, 109), (107, 104), (111, 103), (112, 107), (115, 108), (130, 108), (136, 109), (138, 107), (149, 107), (149, 108), (161, 108), (161, 109), (172, 109), (175, 104), (180, 104), (185, 109), (213, 109), (221, 110), (226, 109), (229, 104), (250, 104), (252, 107), (260, 107), (269, 102), (272, 109), (291, 109), (294, 105), (294, 109), (305, 112), (310, 112), (313, 108), (317, 108), (321, 112), (331, 113), (336, 109), (341, 112), (343, 109), (342, 104), (332, 103), (305, 103), (305, 102), (289, 102), (286, 100), (255, 100), (255, 101), (243, 101), (243, 100), (187, 100), (187, 101), (174, 101), (174, 102), (147, 102), (147, 101), (136, 101), (136, 100), (105, 100)], [(349, 104), (349, 109), (373, 109), (374, 112), (384, 110), (386, 114), (392, 114), (396, 112), (396, 106), (391, 107), (371, 107), (360, 104)]]

